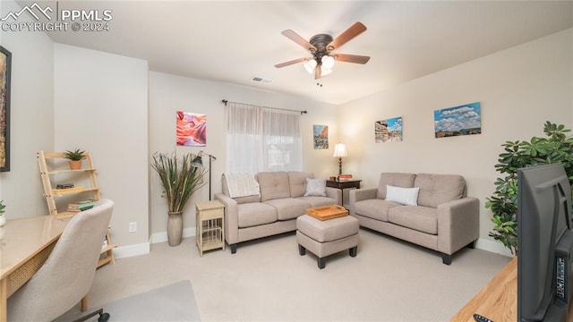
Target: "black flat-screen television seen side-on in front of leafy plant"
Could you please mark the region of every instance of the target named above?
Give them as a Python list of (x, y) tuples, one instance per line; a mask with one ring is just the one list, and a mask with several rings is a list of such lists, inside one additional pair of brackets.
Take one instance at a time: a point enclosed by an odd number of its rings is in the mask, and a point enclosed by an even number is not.
[(519, 169), (517, 198), (517, 321), (566, 322), (573, 232), (563, 165)]

